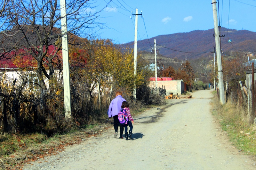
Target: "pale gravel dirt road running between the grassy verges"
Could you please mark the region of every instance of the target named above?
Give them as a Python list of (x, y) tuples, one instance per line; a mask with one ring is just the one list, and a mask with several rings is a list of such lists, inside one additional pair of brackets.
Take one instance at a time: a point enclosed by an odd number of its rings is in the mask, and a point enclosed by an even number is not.
[(133, 141), (114, 138), (110, 128), (23, 169), (256, 169), (214, 121), (211, 92), (168, 100), (135, 117)]

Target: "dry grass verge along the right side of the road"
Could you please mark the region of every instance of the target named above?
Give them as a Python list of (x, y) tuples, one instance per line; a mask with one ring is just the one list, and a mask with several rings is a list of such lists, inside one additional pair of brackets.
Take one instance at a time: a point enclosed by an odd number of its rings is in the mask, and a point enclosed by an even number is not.
[(230, 141), (238, 151), (248, 155), (256, 155), (256, 125), (249, 123), (247, 108), (242, 104), (228, 100), (221, 105), (217, 95), (212, 100), (213, 115), (220, 120), (222, 129), (228, 133)]

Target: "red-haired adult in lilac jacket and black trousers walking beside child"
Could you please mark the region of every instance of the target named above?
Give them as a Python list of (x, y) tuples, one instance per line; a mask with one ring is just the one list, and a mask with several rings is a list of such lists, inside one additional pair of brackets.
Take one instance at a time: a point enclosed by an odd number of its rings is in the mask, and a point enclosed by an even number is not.
[(120, 124), (117, 115), (121, 109), (123, 101), (126, 101), (122, 97), (122, 94), (123, 94), (122, 92), (116, 92), (116, 98), (110, 102), (110, 105), (108, 107), (108, 117), (113, 117), (114, 119), (114, 129), (115, 129), (114, 137), (115, 138), (117, 137), (118, 126), (120, 126), (120, 137), (119, 137), (120, 139), (123, 138), (124, 127), (122, 124)]

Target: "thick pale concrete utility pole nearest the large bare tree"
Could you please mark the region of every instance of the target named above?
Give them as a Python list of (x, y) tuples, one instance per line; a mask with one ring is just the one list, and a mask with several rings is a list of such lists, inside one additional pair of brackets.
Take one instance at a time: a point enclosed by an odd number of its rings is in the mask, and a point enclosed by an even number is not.
[(66, 0), (60, 0), (65, 117), (71, 117)]

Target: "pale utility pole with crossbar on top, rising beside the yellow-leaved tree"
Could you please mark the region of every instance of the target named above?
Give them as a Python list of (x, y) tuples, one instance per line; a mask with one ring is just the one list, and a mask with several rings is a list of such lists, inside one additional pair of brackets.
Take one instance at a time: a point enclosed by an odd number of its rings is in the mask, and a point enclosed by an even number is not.
[[(135, 9), (135, 14), (132, 14), (132, 16), (135, 15), (135, 34), (134, 34), (134, 67), (133, 67), (133, 75), (134, 78), (136, 78), (137, 75), (137, 30), (138, 30), (138, 9)], [(132, 17), (131, 17), (132, 19)], [(133, 88), (133, 99), (136, 100), (136, 84), (134, 85), (135, 87)]]

